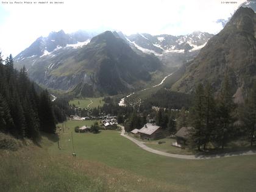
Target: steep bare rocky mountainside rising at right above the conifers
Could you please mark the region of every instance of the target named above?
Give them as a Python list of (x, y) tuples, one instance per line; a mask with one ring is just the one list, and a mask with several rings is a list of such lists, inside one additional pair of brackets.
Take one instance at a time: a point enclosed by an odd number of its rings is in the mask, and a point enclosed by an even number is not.
[(190, 93), (199, 82), (210, 82), (218, 91), (229, 73), (233, 93), (251, 87), (256, 77), (256, 14), (240, 7), (224, 29), (211, 38), (172, 90)]

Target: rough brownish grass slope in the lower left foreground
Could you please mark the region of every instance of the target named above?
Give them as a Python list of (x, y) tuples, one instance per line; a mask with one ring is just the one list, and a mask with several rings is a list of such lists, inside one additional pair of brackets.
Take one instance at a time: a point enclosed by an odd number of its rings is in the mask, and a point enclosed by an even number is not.
[[(54, 138), (55, 139), (55, 138)], [(1, 191), (184, 191), (171, 183), (74, 158), (65, 153), (49, 154), (52, 138), (40, 146), (27, 143), (18, 151), (0, 149)]]

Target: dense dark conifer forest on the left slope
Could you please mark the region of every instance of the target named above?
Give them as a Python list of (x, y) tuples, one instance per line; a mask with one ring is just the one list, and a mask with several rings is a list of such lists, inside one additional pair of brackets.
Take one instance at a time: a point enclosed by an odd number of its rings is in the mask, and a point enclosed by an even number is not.
[[(47, 90), (36, 91), (26, 68), (13, 68), (12, 55), (0, 55), (0, 129), (16, 138), (35, 140), (41, 132), (55, 132), (55, 118)], [(38, 88), (37, 88), (38, 90)]]

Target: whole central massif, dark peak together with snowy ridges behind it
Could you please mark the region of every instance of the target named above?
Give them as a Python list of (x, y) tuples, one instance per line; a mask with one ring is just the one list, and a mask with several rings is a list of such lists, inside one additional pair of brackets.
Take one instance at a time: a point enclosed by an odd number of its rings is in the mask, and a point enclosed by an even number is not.
[(16, 68), (25, 66), (30, 79), (46, 88), (77, 96), (114, 95), (161, 81), (193, 59), (211, 37), (204, 32), (175, 37), (60, 30), (38, 38), (14, 60)]

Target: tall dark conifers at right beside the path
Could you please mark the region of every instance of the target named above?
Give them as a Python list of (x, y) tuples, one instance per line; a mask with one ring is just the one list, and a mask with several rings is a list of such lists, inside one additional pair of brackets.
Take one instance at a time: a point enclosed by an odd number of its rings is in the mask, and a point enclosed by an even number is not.
[(197, 85), (193, 105), (189, 110), (188, 124), (190, 144), (199, 151), (207, 144), (224, 148), (229, 141), (243, 138), (251, 146), (255, 140), (256, 126), (256, 84), (251, 88), (244, 104), (235, 104), (229, 77), (222, 82), (221, 90), (214, 96), (210, 84)]

